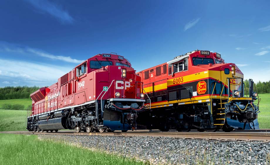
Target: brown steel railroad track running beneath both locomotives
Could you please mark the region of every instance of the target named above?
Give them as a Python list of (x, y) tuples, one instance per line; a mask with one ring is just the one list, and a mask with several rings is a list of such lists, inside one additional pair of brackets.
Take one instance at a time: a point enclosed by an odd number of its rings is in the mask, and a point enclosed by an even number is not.
[(155, 136), (155, 137), (178, 137), (178, 138), (188, 138), (188, 139), (206, 139), (206, 140), (248, 140), (248, 141), (265, 141), (270, 142), (270, 129), (264, 130), (253, 130), (253, 131), (233, 131), (230, 133), (226, 132), (160, 132), (160, 131), (146, 131), (146, 130), (136, 130), (121, 132), (115, 131), (112, 133), (76, 133), (74, 131), (58, 131), (56, 132), (28, 132), (28, 131), (5, 131), (0, 133), (14, 133), (14, 134), (50, 134), (50, 135), (101, 135), (101, 136)]

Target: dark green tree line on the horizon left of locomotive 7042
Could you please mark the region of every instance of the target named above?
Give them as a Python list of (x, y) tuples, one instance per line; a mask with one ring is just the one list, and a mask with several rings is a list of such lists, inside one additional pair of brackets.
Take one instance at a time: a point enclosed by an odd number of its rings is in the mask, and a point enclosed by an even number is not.
[(5, 99), (28, 99), (30, 94), (38, 90), (40, 87), (0, 87), (0, 100)]

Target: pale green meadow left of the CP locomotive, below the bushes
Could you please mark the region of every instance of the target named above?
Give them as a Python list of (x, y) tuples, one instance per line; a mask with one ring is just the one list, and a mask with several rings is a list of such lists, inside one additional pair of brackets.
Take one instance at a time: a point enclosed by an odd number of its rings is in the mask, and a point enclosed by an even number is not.
[(0, 131), (26, 130), (25, 118), (26, 111), (0, 109)]

